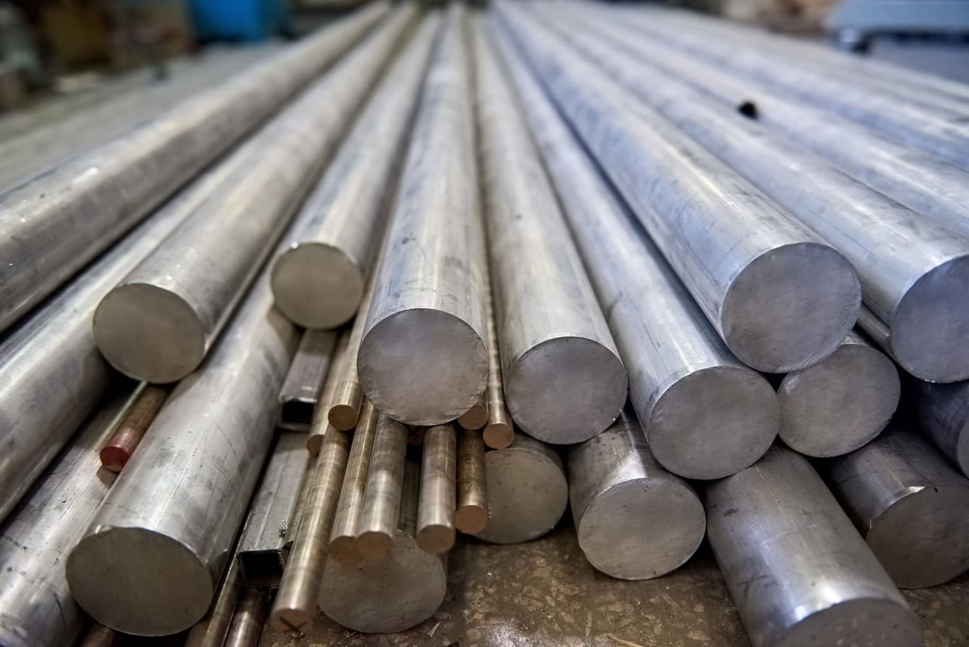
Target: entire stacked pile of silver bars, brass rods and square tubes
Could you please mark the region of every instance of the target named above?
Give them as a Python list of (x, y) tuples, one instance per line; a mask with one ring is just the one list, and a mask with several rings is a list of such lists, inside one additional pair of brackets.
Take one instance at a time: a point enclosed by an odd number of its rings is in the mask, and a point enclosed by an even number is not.
[(7, 191), (0, 643), (403, 631), (571, 502), (613, 577), (708, 538), (756, 647), (921, 644), (967, 117), (686, 13), (377, 2)]

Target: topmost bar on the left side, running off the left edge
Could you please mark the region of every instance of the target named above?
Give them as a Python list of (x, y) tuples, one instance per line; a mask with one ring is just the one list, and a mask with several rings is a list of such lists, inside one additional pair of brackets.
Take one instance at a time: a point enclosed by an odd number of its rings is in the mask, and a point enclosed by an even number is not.
[(370, 5), (0, 195), (0, 330), (319, 75), (388, 9)]

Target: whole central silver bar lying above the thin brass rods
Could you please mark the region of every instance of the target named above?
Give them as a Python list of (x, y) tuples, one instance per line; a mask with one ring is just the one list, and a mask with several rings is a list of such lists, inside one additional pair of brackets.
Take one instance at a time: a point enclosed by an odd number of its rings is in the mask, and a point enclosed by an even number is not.
[(460, 416), (487, 382), (485, 231), (466, 8), (454, 3), (446, 11), (357, 358), (359, 383), (374, 406), (416, 425)]

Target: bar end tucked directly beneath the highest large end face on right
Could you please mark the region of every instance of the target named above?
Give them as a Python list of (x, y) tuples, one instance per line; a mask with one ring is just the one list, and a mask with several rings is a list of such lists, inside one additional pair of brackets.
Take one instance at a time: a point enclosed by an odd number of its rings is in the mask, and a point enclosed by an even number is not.
[(885, 429), (900, 394), (891, 359), (850, 332), (837, 351), (784, 376), (780, 438), (808, 456), (846, 454)]

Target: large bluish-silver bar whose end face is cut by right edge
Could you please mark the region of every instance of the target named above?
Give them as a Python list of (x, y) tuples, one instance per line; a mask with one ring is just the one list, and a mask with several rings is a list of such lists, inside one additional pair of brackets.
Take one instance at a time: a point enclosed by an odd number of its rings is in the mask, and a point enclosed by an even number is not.
[[(577, 23), (556, 23), (571, 38)], [(850, 260), (865, 306), (887, 325), (888, 350), (907, 371), (933, 382), (969, 377), (969, 348), (959, 344), (969, 335), (969, 309), (952, 307), (969, 295), (969, 238), (736, 112), (711, 106), (675, 77), (630, 65), (628, 52), (610, 41), (579, 35), (575, 45)]]

